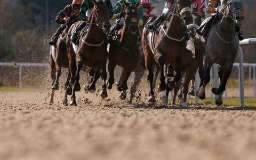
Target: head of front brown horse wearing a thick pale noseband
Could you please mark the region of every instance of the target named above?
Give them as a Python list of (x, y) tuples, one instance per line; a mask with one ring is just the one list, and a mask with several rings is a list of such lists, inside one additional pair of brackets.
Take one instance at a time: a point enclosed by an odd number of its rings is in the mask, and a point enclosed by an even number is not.
[(191, 17), (191, 1), (190, 0), (177, 0), (175, 5), (175, 14), (180, 14), (185, 20), (186, 25), (192, 21)]

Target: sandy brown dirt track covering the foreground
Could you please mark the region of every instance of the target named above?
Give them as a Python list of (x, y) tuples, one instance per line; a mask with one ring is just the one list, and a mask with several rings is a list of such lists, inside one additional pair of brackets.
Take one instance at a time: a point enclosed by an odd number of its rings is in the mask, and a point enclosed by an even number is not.
[(115, 92), (63, 107), (60, 91), (49, 106), (47, 92), (0, 92), (0, 159), (256, 159), (256, 108), (126, 105)]

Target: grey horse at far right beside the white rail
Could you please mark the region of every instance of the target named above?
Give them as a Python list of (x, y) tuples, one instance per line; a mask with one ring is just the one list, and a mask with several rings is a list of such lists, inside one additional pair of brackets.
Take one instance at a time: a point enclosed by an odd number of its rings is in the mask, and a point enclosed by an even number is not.
[(213, 63), (218, 63), (220, 86), (212, 88), (214, 94), (219, 95), (216, 105), (222, 105), (222, 94), (226, 90), (226, 84), (231, 74), (233, 64), (238, 52), (239, 39), (235, 27), (241, 26), (244, 19), (242, 14), (243, 3), (241, 0), (222, 0), (223, 17), (212, 26), (206, 39), (206, 59), (204, 63), (203, 85), (196, 92), (197, 97), (205, 98), (205, 86), (210, 82), (210, 70)]

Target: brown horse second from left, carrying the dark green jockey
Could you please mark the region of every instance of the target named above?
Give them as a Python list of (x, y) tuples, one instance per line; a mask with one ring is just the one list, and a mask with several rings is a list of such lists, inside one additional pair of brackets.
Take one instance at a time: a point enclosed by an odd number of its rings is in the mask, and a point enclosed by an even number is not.
[[(81, 90), (79, 84), (79, 73), (83, 65), (93, 68), (95, 71), (93, 80), (86, 85), (86, 89), (96, 90), (95, 83), (100, 78), (103, 79), (101, 97), (107, 97), (107, 41), (106, 33), (110, 29), (109, 13), (106, 3), (100, 0), (93, 0), (94, 9), (92, 11), (91, 21), (86, 28), (87, 33), (79, 40), (79, 48), (77, 53), (74, 50), (69, 50), (69, 67), (71, 71), (70, 84), (72, 84), (72, 95), (70, 105), (76, 106), (75, 92)], [(69, 43), (69, 45), (71, 45)]]

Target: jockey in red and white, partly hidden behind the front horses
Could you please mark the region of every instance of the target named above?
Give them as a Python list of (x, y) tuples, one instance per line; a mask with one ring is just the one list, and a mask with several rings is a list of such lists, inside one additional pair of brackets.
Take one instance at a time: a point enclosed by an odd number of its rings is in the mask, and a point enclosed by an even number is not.
[(151, 0), (141, 0), (140, 4), (143, 7), (143, 17), (148, 17), (152, 19), (156, 17), (156, 8), (152, 5)]

